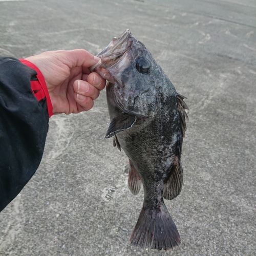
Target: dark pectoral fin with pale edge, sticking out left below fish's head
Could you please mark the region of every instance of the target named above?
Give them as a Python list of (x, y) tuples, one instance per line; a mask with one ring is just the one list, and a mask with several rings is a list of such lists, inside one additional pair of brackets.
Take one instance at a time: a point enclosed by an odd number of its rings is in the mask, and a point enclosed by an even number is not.
[(136, 117), (131, 115), (124, 115), (122, 118), (113, 118), (110, 123), (109, 129), (106, 132), (105, 139), (108, 139), (121, 131), (131, 128), (135, 122)]

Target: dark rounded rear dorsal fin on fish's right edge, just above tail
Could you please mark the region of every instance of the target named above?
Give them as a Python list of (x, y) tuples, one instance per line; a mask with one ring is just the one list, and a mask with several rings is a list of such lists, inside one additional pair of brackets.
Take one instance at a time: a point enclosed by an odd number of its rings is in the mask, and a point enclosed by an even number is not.
[(167, 175), (168, 178), (164, 181), (163, 197), (172, 200), (180, 194), (183, 185), (183, 169), (178, 156), (175, 157), (174, 165)]

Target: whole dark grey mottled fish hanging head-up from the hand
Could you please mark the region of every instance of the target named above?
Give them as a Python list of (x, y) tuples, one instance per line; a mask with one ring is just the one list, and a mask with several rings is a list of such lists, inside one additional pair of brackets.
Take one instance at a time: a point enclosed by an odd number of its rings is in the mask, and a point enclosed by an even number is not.
[(185, 96), (129, 29), (114, 37), (90, 68), (109, 72), (106, 99), (110, 125), (105, 138), (129, 158), (128, 186), (144, 201), (130, 237), (134, 246), (167, 250), (181, 243), (164, 199), (176, 198), (183, 185), (182, 142), (188, 120)]

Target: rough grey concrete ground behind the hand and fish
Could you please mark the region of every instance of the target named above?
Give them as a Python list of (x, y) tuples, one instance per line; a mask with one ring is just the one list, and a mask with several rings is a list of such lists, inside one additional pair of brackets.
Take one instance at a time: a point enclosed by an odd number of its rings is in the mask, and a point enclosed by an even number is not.
[(104, 140), (105, 91), (94, 108), (53, 116), (36, 174), (0, 214), (1, 255), (255, 255), (256, 2), (0, 1), (0, 53), (93, 54), (129, 28), (190, 108), (184, 186), (166, 205), (182, 244), (128, 242), (143, 202), (128, 162)]

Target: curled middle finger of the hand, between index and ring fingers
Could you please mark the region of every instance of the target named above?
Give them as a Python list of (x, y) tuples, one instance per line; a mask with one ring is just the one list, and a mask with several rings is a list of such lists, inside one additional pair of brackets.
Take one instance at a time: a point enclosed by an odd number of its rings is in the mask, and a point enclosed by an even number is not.
[(77, 99), (83, 100), (84, 97), (91, 97), (93, 100), (99, 97), (99, 90), (89, 82), (76, 80), (74, 82), (74, 91), (77, 93)]

